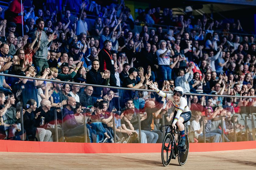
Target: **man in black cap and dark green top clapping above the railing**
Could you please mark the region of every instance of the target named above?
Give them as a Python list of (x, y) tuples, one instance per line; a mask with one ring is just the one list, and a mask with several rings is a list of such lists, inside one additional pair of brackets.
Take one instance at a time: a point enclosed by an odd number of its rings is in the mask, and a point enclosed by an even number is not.
[(59, 73), (57, 79), (61, 80), (61, 81), (70, 81), (73, 80), (73, 78), (77, 78), (77, 77), (81, 77), (82, 74), (82, 70), (81, 70), (81, 66), (83, 65), (83, 62), (80, 62), (79, 64), (77, 64), (76, 69), (68, 74), (69, 72), (69, 64), (68, 63), (62, 63), (61, 65), (61, 73)]

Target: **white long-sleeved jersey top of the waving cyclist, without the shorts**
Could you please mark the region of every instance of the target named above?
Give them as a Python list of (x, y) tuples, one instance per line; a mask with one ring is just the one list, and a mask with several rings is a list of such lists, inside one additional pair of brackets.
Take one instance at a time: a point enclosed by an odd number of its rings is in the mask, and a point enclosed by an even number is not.
[(162, 96), (164, 98), (167, 98), (172, 101), (173, 106), (175, 107), (175, 110), (177, 111), (176, 116), (174, 117), (173, 123), (176, 124), (176, 122), (179, 120), (180, 115), (184, 112), (191, 112), (190, 108), (187, 106), (187, 100), (184, 97), (180, 97), (180, 100), (174, 101), (173, 94), (164, 93), (159, 89), (156, 89), (156, 92), (159, 96)]

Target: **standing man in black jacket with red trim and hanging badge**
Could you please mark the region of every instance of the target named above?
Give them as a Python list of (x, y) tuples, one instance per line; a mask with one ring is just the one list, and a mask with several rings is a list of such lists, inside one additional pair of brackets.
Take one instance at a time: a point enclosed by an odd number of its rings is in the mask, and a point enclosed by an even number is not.
[(99, 69), (101, 72), (104, 72), (105, 70), (109, 70), (110, 71), (109, 84), (110, 86), (116, 86), (114, 60), (110, 52), (111, 48), (112, 48), (112, 42), (109, 40), (104, 41), (104, 48), (101, 49), (98, 54)]

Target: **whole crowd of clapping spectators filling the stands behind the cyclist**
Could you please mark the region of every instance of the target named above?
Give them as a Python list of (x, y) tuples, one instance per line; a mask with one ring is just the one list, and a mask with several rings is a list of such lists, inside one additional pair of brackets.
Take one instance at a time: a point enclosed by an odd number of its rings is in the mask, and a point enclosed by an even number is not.
[(0, 76), (0, 138), (78, 140), (86, 124), (91, 142), (114, 143), (116, 131), (119, 143), (161, 143), (159, 127), (172, 121), (171, 102), (155, 92), (111, 88), (150, 90), (152, 81), (163, 91), (180, 86), (201, 94), (186, 95), (193, 141), (203, 142), (203, 125), (208, 142), (223, 141), (221, 128), (225, 141), (236, 134), (246, 140), (244, 124), (237, 117), (233, 124), (232, 116), (256, 106), (255, 98), (235, 97), (255, 96), (256, 44), (254, 35), (241, 35), (239, 20), (173, 15), (160, 7), (138, 9), (133, 18), (123, 0), (66, 0), (62, 10), (40, 3), (24, 7), (13, 0), (0, 7), (0, 73), (49, 80)]

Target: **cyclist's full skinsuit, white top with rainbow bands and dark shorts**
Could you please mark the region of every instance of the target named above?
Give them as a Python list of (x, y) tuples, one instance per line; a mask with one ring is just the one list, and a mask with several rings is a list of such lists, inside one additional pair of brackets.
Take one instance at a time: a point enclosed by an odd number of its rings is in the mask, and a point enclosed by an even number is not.
[(175, 112), (172, 118), (172, 123), (177, 123), (177, 121), (182, 117), (184, 119), (183, 123), (186, 123), (191, 118), (191, 110), (187, 106), (187, 100), (184, 97), (180, 97), (180, 101), (174, 101), (173, 94), (164, 93), (159, 89), (156, 89), (156, 92), (159, 96), (167, 98), (172, 101), (173, 106), (175, 107)]

